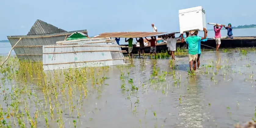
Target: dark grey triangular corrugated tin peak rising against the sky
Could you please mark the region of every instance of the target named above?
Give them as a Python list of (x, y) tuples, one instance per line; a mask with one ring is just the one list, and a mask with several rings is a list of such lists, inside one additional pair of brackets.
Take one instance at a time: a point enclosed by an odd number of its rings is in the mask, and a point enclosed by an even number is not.
[(50, 34), (50, 33), (62, 33), (67, 32), (63, 29), (59, 29), (56, 26), (48, 24), (47, 22), (37, 19), (34, 25), (31, 27), (27, 35), (38, 35), (38, 34)]

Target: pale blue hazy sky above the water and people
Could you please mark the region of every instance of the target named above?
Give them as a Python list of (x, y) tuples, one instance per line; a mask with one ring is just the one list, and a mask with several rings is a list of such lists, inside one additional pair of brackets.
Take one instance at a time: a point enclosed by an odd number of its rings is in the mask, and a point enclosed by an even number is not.
[[(66, 31), (179, 31), (178, 10), (202, 6), (206, 22), (256, 24), (255, 0), (0, 0), (0, 40), (27, 35), (37, 19)], [(207, 28), (212, 29), (211, 25)]]

